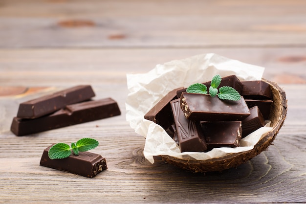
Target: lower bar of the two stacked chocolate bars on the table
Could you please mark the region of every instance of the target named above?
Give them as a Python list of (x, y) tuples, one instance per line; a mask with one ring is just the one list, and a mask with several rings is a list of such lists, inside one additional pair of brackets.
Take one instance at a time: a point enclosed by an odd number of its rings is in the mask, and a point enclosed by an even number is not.
[(116, 101), (105, 98), (68, 105), (65, 109), (35, 119), (14, 117), (11, 131), (16, 136), (25, 136), (120, 114)]

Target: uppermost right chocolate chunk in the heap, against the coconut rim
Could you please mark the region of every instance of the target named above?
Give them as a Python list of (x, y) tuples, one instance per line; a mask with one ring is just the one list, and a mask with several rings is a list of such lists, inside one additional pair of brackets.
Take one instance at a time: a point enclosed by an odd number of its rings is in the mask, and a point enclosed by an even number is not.
[(242, 84), (241, 95), (245, 99), (273, 99), (270, 85), (264, 81), (244, 81)]

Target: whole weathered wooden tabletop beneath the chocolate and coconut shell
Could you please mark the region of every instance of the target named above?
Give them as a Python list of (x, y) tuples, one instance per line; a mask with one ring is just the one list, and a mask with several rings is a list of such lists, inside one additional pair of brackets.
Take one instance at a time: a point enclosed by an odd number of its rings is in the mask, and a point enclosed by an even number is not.
[[(1, 0), (0, 203), (305, 203), (306, 1)], [(267, 151), (194, 174), (143, 156), (126, 121), (127, 73), (214, 52), (265, 67), (287, 118)], [(19, 104), (90, 84), (120, 116), (30, 136), (10, 132)], [(54, 142), (92, 137), (108, 170), (93, 179), (39, 165)]]

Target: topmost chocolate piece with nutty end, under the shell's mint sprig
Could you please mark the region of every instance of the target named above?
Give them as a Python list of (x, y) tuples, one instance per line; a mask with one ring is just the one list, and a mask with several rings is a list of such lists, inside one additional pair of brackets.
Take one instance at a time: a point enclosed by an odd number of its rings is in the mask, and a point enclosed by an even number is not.
[(238, 101), (221, 100), (206, 94), (182, 93), (181, 109), (186, 118), (203, 121), (243, 120), (250, 115), (243, 97)]

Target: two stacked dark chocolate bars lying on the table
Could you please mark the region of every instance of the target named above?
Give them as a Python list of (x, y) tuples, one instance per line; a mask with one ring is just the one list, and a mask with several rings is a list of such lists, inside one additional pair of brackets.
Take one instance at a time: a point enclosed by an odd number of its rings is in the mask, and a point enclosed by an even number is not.
[(116, 101), (94, 96), (91, 86), (82, 85), (23, 102), (11, 131), (25, 136), (121, 114)]

